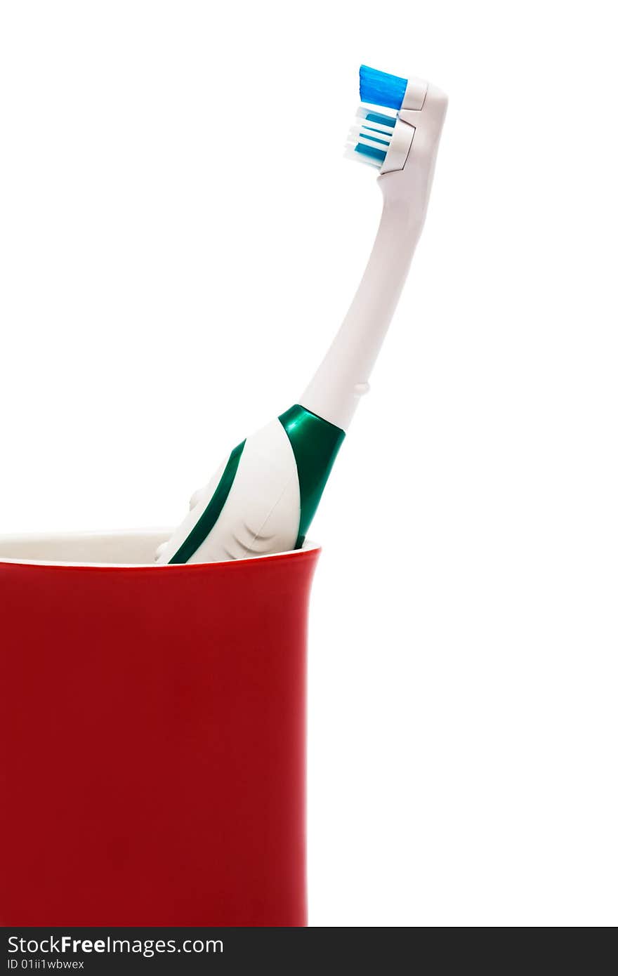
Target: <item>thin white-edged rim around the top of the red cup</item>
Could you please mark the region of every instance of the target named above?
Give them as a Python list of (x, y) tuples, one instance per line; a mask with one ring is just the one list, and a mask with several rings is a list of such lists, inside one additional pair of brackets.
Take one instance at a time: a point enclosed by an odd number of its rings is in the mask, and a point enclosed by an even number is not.
[(264, 555), (247, 556), (244, 559), (229, 559), (226, 561), (219, 562), (192, 562), (192, 563), (174, 563), (174, 564), (164, 564), (158, 565), (155, 562), (110, 562), (110, 561), (91, 561), (91, 560), (68, 560), (68, 559), (33, 559), (31, 557), (21, 558), (10, 555), (3, 555), (1, 550), (10, 548), (12, 545), (16, 547), (24, 545), (36, 545), (37, 543), (43, 545), (66, 545), (67, 543), (88, 543), (91, 542), (93, 545), (104, 544), (106, 541), (110, 543), (112, 540), (117, 540), (119, 543), (123, 539), (138, 539), (144, 542), (152, 543), (152, 551), (156, 549), (160, 542), (164, 542), (169, 539), (173, 528), (163, 528), (163, 529), (101, 529), (101, 530), (88, 530), (88, 531), (71, 531), (71, 532), (23, 532), (23, 533), (10, 533), (0, 535), (0, 566), (4, 565), (16, 565), (16, 566), (47, 566), (56, 569), (98, 569), (98, 570), (139, 570), (139, 571), (151, 571), (156, 573), (161, 572), (179, 572), (179, 571), (195, 571), (204, 570), (208, 567), (233, 567), (237, 565), (247, 565), (247, 563), (255, 563), (259, 560), (273, 560), (273, 559), (289, 559), (289, 558), (299, 558), (302, 556), (307, 556), (309, 552), (317, 552), (320, 550), (320, 546), (317, 543), (307, 540), (303, 545), (302, 549), (290, 549), (284, 552), (271, 552)]

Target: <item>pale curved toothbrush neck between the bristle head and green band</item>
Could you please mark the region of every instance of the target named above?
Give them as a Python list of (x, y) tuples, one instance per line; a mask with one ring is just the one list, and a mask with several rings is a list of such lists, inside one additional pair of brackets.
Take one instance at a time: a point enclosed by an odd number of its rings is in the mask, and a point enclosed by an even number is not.
[(299, 401), (343, 430), (369, 389), (425, 219), (427, 194), (399, 195), (399, 177), (380, 178), (384, 208), (373, 250), (348, 314)]

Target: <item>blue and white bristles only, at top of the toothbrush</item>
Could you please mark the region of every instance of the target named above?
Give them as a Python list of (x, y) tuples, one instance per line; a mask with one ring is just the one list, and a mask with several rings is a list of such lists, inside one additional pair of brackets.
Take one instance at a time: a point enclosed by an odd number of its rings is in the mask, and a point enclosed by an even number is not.
[(345, 155), (349, 159), (382, 169), (406, 86), (405, 78), (361, 64), (360, 101), (363, 104), (356, 111), (346, 142)]

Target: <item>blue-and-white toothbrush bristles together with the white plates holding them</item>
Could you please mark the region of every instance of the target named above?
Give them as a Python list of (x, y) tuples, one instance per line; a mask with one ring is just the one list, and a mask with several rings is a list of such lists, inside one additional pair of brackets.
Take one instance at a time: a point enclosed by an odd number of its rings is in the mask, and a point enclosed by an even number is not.
[(402, 170), (414, 138), (428, 84), (360, 65), (360, 102), (345, 155), (380, 170)]

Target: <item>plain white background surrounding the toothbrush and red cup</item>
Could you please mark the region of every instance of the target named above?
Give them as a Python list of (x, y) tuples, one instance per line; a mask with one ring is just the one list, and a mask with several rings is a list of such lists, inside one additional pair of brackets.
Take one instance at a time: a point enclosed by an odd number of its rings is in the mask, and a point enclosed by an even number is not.
[(358, 64), (450, 94), (311, 531), (313, 925), (618, 920), (611, 10), (0, 7), (0, 531), (178, 522), (350, 302)]

